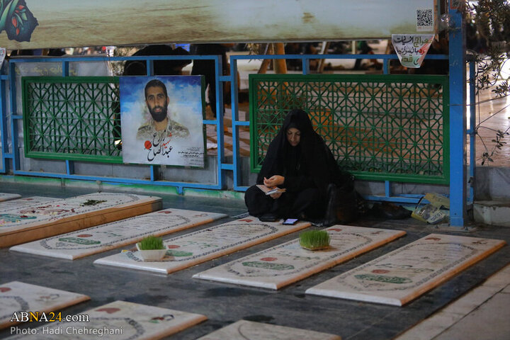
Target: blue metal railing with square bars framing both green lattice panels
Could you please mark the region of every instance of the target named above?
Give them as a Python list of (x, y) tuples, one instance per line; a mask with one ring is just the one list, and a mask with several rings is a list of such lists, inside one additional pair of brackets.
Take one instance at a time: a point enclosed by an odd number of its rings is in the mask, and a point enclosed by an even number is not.
[[(241, 156), (239, 153), (239, 128), (249, 127), (250, 122), (239, 120), (239, 103), (238, 103), (238, 80), (237, 80), (237, 62), (239, 60), (263, 60), (263, 59), (297, 59), (302, 62), (302, 74), (310, 74), (310, 60), (317, 59), (378, 59), (382, 60), (383, 74), (389, 73), (389, 62), (390, 60), (397, 59), (396, 55), (232, 55), (230, 56), (231, 72), (228, 76), (222, 75), (222, 64), (219, 56), (196, 56), (196, 55), (183, 55), (183, 56), (151, 56), (151, 57), (52, 57), (52, 58), (24, 58), (24, 59), (12, 59), (9, 61), (9, 74), (1, 75), (0, 81), (0, 93), (6, 92), (6, 82), (8, 81), (11, 86), (11, 91), (8, 93), (10, 113), (7, 113), (6, 103), (4, 98), (7, 95), (1, 97), (1, 120), (0, 120), (0, 134), (1, 134), (1, 169), (0, 172), (6, 173), (11, 171), (14, 175), (27, 175), (27, 176), (43, 176), (43, 177), (54, 177), (61, 179), (81, 179), (90, 181), (106, 181), (112, 183), (135, 183), (135, 184), (152, 184), (157, 186), (174, 186), (177, 188), (179, 193), (183, 193), (183, 188), (203, 188), (220, 190), (226, 188), (225, 176), (227, 171), (232, 171), (233, 177), (233, 189), (234, 191), (245, 191), (246, 186), (240, 185), (241, 179)], [(429, 55), (426, 60), (447, 60), (446, 55)], [(23, 115), (18, 111), (16, 103), (16, 64), (30, 63), (30, 62), (58, 62), (62, 65), (62, 77), (69, 77), (69, 64), (73, 62), (115, 62), (125, 60), (140, 60), (147, 63), (147, 75), (153, 74), (152, 64), (155, 60), (213, 60), (215, 62), (215, 73), (216, 73), (216, 98), (217, 103), (216, 111), (223, 111), (222, 101), (222, 84), (225, 81), (231, 82), (231, 96), (232, 96), (232, 163), (225, 162), (225, 151), (224, 151), (224, 134), (223, 134), (223, 117), (217, 115), (214, 120), (204, 119), (204, 125), (215, 125), (217, 131), (217, 164), (216, 164), (216, 183), (200, 183), (200, 182), (187, 182), (187, 181), (159, 181), (157, 166), (149, 166), (150, 179), (130, 179), (123, 177), (108, 177), (108, 176), (86, 176), (82, 174), (74, 174), (74, 160), (64, 159), (66, 165), (66, 171), (64, 174), (60, 173), (48, 173), (41, 171), (26, 171), (21, 169), (19, 160), (19, 145), (18, 145), (18, 121), (23, 120)], [(470, 67), (471, 69), (471, 67)], [(7, 119), (10, 118), (10, 121)], [(450, 129), (456, 129), (457, 127), (450, 127)], [(8, 131), (9, 129), (9, 131)], [(8, 135), (10, 132), (10, 138)], [(10, 144), (10, 148), (9, 145)], [(472, 143), (473, 145), (474, 143)], [(471, 152), (471, 157), (475, 157), (474, 152)], [(64, 157), (65, 158), (65, 157)], [(7, 161), (11, 162), (11, 169), (7, 169)], [(471, 162), (474, 164), (474, 162)], [(414, 203), (416, 197), (399, 196), (395, 197), (392, 195), (390, 181), (385, 181), (385, 196), (372, 197), (376, 200), (393, 200), (399, 202)]]

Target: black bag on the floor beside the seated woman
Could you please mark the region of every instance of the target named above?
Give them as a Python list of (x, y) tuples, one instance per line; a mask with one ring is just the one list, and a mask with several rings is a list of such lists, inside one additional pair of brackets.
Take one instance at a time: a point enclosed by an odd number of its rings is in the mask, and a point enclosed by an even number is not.
[(339, 188), (334, 183), (327, 188), (327, 208), (324, 215), (324, 226), (349, 223), (359, 216), (360, 206), (365, 205), (363, 198), (353, 186)]

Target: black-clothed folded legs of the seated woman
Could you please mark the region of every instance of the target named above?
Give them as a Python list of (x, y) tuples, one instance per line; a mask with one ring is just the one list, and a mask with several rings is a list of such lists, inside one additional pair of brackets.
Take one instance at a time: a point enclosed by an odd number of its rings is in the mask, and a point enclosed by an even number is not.
[(256, 217), (273, 213), (283, 218), (298, 218), (302, 214), (317, 218), (322, 217), (325, 211), (325, 203), (317, 188), (306, 188), (299, 193), (283, 193), (275, 200), (256, 186), (251, 186), (244, 193), (244, 203), (249, 214)]

